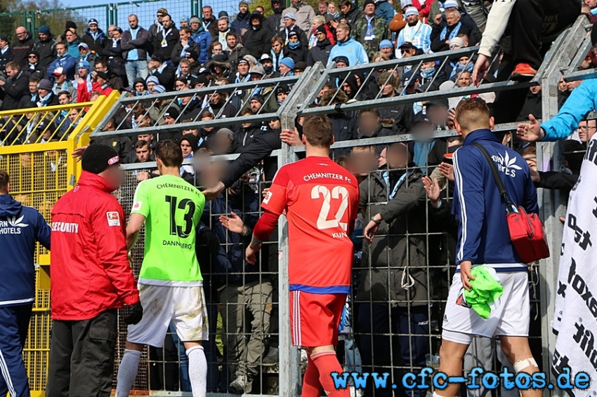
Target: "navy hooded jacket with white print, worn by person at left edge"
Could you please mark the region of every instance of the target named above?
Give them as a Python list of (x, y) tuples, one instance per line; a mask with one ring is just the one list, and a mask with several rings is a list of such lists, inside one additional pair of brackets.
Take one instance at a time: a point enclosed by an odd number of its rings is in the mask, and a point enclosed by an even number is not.
[(35, 242), (49, 250), (50, 230), (35, 208), (22, 206), (8, 194), (0, 195), (0, 307), (35, 300)]

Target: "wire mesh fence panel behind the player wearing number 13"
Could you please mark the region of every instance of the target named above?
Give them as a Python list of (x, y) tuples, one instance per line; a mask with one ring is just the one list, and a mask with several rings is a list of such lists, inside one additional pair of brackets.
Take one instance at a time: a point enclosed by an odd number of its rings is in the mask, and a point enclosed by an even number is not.
[[(230, 157), (198, 154), (186, 166), (194, 166), (195, 175), (189, 182), (201, 188), (211, 184), (225, 172)], [(272, 159), (275, 161), (275, 159)], [(156, 172), (155, 163), (123, 166), (126, 180), (115, 192), (130, 213), (134, 191), (140, 182)], [(154, 177), (156, 177), (154, 175)], [(247, 240), (240, 234), (223, 227), (220, 217), (237, 214), (253, 227), (260, 215), (259, 198), (267, 186), (256, 167), (244, 175), (223, 195), (206, 203), (197, 229), (197, 257), (204, 278), (209, 337), (203, 346), (208, 363), (208, 391), (227, 392), (235, 375), (249, 374), (244, 392), (278, 395), (277, 357), (274, 362), (263, 362), (269, 351), (277, 351), (277, 241), (275, 237), (263, 248), (260, 262), (244, 262)], [(154, 226), (155, 227), (155, 226)], [(132, 250), (133, 271), (136, 276), (143, 262), (145, 236), (141, 232)], [(175, 264), (173, 264), (175, 265)], [(147, 315), (150, 311), (146, 311)], [(124, 353), (126, 326), (119, 318), (117, 365)], [(115, 368), (115, 376), (118, 367)], [(173, 328), (167, 332), (164, 347), (148, 347), (143, 352), (140, 370), (133, 386), (137, 392), (190, 391), (188, 361), (185, 349)]]

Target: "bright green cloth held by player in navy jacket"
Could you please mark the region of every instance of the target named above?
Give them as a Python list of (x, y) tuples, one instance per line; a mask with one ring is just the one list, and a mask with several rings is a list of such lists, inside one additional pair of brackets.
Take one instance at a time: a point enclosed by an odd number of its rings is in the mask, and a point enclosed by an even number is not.
[(473, 288), (470, 291), (464, 290), (464, 299), (479, 316), (487, 319), (491, 314), (490, 304), (501, 297), (504, 287), (497, 280), (495, 270), (486, 264), (473, 267), (471, 275), (475, 277), (471, 280)]

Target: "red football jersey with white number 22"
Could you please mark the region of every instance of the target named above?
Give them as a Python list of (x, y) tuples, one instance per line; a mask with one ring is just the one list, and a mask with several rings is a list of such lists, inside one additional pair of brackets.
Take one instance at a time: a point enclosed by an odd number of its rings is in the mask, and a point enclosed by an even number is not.
[(278, 170), (261, 206), (277, 215), (286, 211), (290, 290), (350, 292), (356, 177), (327, 157), (310, 156)]

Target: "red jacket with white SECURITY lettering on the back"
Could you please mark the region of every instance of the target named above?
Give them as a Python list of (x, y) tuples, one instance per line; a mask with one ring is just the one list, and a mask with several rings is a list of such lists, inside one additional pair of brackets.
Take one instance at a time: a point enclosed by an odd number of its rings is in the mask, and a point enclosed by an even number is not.
[(126, 251), (126, 218), (113, 187), (83, 171), (52, 209), (52, 318), (87, 320), (139, 302)]

